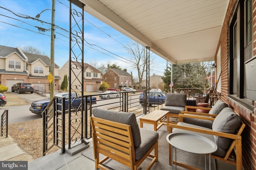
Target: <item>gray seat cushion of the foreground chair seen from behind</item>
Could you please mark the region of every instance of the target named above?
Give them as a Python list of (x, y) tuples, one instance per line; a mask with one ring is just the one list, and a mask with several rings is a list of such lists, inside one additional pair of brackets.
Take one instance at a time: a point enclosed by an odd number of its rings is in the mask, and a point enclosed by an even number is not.
[(142, 156), (152, 147), (158, 140), (158, 132), (151, 129), (140, 128), (141, 144), (140, 147), (135, 147), (135, 159), (140, 160)]

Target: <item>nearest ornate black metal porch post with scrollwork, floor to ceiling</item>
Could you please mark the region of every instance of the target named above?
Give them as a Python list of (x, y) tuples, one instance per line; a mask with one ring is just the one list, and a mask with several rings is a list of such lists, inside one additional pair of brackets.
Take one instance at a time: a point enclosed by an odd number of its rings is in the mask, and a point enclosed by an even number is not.
[(74, 108), (69, 102), (68, 115), (68, 149), (83, 139), (84, 126), (84, 4), (81, 12), (74, 9), (70, 0), (70, 52), (69, 52), (69, 97), (75, 93), (80, 98), (80, 107)]

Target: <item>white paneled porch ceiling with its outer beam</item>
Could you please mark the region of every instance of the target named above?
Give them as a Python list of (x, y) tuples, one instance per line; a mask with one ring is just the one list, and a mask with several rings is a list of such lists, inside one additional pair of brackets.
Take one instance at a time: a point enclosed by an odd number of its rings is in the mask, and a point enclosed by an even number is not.
[(171, 63), (213, 61), (229, 0), (80, 0), (84, 10)]

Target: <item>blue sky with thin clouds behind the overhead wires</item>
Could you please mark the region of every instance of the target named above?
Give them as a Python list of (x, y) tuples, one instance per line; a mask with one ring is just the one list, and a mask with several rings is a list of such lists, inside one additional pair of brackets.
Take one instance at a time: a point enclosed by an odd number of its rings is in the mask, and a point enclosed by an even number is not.
[[(50, 57), (50, 24), (29, 17), (35, 18), (42, 10), (52, 9), (52, 0), (1, 0), (0, 6), (2, 7), (0, 8), (0, 45), (21, 49), (32, 46)], [(122, 69), (126, 68), (128, 72), (132, 71), (133, 76), (137, 76), (137, 71), (130, 67), (127, 60), (122, 59), (129, 59), (122, 45), (126, 45), (131, 40), (90, 14), (86, 12), (84, 14), (84, 38), (88, 43), (100, 47), (84, 43), (84, 62), (90, 64), (96, 61), (98, 66), (110, 62), (119, 65)], [(51, 10), (44, 11), (39, 20), (51, 23)], [(68, 0), (56, 0), (55, 25), (69, 30)], [(38, 27), (46, 31), (38, 31)], [(69, 35), (58, 27), (55, 31), (54, 58), (55, 63), (61, 68), (68, 60)], [(153, 74), (162, 76), (166, 68), (166, 60), (154, 53), (151, 57), (154, 57), (155, 64), (150, 65), (150, 76)]]

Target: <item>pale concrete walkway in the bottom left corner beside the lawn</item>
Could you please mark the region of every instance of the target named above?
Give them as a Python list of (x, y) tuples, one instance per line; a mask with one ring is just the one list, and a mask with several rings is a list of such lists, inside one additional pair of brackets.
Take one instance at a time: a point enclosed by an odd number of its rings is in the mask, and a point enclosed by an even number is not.
[(0, 161), (4, 160), (32, 162), (34, 159), (28, 152), (20, 149), (14, 139), (8, 135), (7, 138), (0, 137)]

